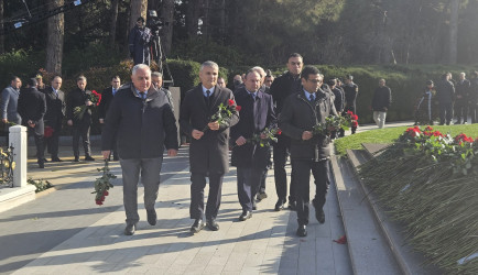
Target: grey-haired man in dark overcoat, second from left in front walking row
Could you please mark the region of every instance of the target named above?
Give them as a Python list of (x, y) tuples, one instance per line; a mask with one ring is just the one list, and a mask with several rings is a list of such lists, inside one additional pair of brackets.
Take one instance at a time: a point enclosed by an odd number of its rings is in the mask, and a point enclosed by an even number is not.
[[(216, 217), (219, 211), (222, 177), (229, 170), (229, 128), (235, 125), (239, 116), (232, 116), (218, 123), (210, 118), (220, 103), (228, 105), (233, 100), (232, 91), (217, 86), (219, 66), (214, 62), (205, 62), (199, 69), (202, 85), (187, 91), (181, 107), (180, 124), (182, 131), (192, 136), (189, 146), (191, 165), (191, 208), (194, 219), (193, 233), (204, 228), (204, 187), (206, 176), (209, 177), (209, 196), (206, 207), (206, 221), (210, 230), (219, 230)], [(236, 105), (233, 105), (236, 106)]]

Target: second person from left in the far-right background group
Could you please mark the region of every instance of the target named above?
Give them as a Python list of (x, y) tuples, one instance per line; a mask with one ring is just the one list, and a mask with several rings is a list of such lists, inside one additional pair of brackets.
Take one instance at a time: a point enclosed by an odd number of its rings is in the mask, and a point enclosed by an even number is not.
[(443, 74), (442, 80), (436, 86), (436, 98), (439, 105), (439, 124), (447, 124), (452, 122), (453, 118), (453, 103), (455, 100), (455, 86), (450, 79), (450, 74)]

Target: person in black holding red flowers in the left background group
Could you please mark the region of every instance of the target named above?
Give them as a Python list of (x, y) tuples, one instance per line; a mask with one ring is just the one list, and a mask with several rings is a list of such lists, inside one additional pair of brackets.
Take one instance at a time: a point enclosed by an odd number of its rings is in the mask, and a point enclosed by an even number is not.
[[(86, 89), (86, 77), (80, 76), (76, 80), (78, 86), (76, 89), (68, 92), (66, 96), (66, 119), (67, 124), (73, 127), (73, 154), (75, 162), (79, 162), (79, 136), (83, 140), (85, 150), (85, 161), (95, 161), (91, 157), (91, 148), (89, 146), (89, 130), (91, 128), (91, 109), (93, 102), (88, 99), (91, 95), (90, 90)], [(75, 107), (86, 106), (87, 109), (82, 119), (74, 114)]]

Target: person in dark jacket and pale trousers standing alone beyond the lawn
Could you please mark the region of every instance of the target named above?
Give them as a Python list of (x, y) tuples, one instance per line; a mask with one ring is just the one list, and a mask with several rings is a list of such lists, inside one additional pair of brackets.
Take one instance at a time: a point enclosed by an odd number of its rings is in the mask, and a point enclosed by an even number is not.
[(391, 103), (392, 91), (385, 86), (385, 79), (382, 78), (379, 80), (379, 87), (377, 87), (372, 98), (373, 121), (379, 129), (385, 125), (387, 111)]

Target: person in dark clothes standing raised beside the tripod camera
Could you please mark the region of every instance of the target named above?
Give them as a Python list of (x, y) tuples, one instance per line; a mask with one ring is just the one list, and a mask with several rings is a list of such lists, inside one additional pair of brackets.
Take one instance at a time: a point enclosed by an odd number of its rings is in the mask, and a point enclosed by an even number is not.
[(150, 41), (151, 30), (144, 25), (144, 19), (138, 18), (137, 25), (131, 29), (129, 34), (129, 50), (134, 65), (146, 64), (150, 66)]

